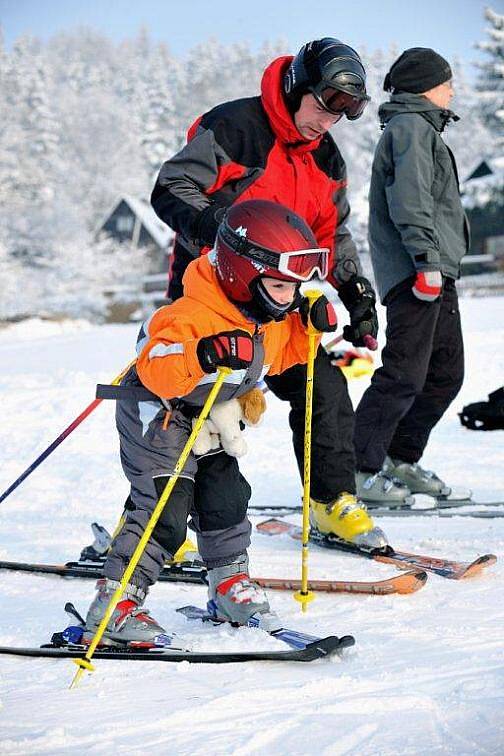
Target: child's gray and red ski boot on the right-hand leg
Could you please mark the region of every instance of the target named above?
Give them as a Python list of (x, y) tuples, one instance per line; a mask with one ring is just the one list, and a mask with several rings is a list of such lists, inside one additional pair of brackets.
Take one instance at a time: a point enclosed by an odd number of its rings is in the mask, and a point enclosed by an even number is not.
[(208, 570), (208, 596), (208, 609), (219, 619), (234, 625), (252, 624), (267, 632), (282, 627), (265, 592), (250, 580), (246, 554), (231, 564)]

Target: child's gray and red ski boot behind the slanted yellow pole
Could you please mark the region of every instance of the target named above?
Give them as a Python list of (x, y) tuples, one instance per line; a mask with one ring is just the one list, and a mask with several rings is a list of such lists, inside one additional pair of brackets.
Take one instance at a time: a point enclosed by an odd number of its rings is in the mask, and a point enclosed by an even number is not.
[[(86, 615), (84, 643), (91, 642), (112, 594), (120, 583), (117, 580), (100, 578), (96, 583), (98, 593), (91, 603)], [(147, 609), (141, 609), (147, 591), (136, 585), (128, 584), (123, 598), (117, 604), (103, 634), (101, 643), (114, 646), (127, 643), (155, 643), (157, 636), (166, 631), (149, 615)]]

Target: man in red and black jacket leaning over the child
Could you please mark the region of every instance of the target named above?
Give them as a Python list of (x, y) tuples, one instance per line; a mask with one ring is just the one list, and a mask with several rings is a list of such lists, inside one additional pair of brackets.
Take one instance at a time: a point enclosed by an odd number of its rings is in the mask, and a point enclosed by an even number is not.
[[(329, 248), (328, 280), (350, 313), (345, 338), (363, 346), (376, 337), (375, 294), (346, 227), (346, 167), (328, 133), (343, 115), (350, 120), (362, 115), (369, 100), (365, 81), (355, 50), (324, 38), (306, 44), (294, 58), (274, 60), (264, 72), (260, 97), (223, 103), (196, 120), (187, 145), (163, 164), (151, 198), (157, 215), (177, 232), (171, 299), (182, 294), (189, 262), (212, 248), (226, 208), (267, 199), (301, 215), (320, 247)], [(345, 540), (381, 544), (354, 495), (353, 408), (346, 381), (323, 349), (315, 376), (312, 525)], [(267, 384), (290, 401), (302, 474), (306, 367), (294, 366)], [(213, 464), (211, 457), (201, 460), (199, 474), (209, 474)], [(226, 464), (232, 475), (233, 460)]]

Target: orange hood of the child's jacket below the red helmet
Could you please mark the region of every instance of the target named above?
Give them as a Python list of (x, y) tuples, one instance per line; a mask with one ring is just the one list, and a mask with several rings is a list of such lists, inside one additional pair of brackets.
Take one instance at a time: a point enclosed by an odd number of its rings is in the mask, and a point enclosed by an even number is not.
[(202, 255), (189, 263), (182, 279), (184, 297), (193, 299), (205, 305), (207, 309), (213, 310), (228, 320), (230, 326), (254, 333), (256, 324), (245, 317), (226, 297), (221, 288), (213, 264), (214, 254), (211, 251), (208, 255)]

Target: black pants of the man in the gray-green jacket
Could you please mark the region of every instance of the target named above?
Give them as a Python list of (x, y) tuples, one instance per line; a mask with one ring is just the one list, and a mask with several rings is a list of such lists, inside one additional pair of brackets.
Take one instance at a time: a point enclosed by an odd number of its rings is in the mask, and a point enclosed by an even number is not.
[(387, 296), (386, 345), (355, 417), (357, 469), (377, 472), (386, 455), (418, 462), (431, 430), (464, 379), (464, 348), (455, 281), (423, 302), (408, 279)]

